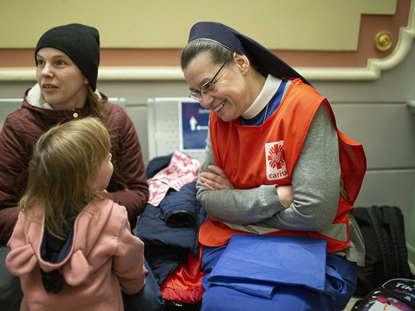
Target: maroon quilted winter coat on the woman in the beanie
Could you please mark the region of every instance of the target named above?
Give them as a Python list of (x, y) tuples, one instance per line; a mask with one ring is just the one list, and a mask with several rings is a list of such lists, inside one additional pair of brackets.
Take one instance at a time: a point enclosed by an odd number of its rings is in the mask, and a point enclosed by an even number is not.
[[(59, 122), (68, 122), (75, 116), (89, 116), (89, 106), (76, 111), (55, 111), (40, 108), (39, 103), (28, 102), (24, 95), (21, 109), (6, 117), (0, 133), (0, 243), (7, 243), (17, 221), (17, 202), (26, 185), (26, 171), (33, 146), (45, 131)], [(148, 200), (148, 185), (141, 146), (133, 122), (125, 111), (104, 100), (112, 143), (114, 171), (119, 171), (129, 188), (116, 191), (111, 178), (109, 198), (127, 208), (131, 228)], [(33, 101), (33, 99), (30, 99)]]

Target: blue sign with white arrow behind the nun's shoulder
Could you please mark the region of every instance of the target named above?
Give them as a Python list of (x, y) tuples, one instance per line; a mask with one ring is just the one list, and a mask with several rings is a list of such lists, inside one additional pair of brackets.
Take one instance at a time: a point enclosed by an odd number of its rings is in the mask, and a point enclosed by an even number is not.
[(210, 109), (203, 108), (199, 102), (180, 102), (179, 111), (181, 150), (205, 149)]

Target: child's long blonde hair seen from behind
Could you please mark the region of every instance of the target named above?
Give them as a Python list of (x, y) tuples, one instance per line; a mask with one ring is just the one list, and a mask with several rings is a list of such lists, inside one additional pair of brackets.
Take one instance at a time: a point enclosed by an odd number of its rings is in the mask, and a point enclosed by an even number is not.
[(53, 126), (35, 144), (19, 209), (28, 214), (33, 205), (44, 203), (46, 229), (63, 238), (67, 216), (76, 216), (100, 194), (94, 178), (110, 148), (109, 133), (98, 118)]

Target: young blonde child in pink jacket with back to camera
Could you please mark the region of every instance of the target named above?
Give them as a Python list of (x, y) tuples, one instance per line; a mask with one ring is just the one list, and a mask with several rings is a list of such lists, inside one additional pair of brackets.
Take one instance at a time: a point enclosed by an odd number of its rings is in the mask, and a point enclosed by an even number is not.
[(105, 191), (110, 147), (94, 117), (54, 126), (35, 144), (6, 258), (21, 310), (123, 310), (121, 290), (144, 286), (144, 243)]

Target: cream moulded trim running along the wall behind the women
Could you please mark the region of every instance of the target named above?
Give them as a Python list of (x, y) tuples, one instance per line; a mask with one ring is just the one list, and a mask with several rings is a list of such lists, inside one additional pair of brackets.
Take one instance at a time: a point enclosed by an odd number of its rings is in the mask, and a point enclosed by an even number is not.
[[(381, 59), (368, 59), (364, 67), (295, 67), (304, 77), (313, 81), (325, 80), (376, 80), (383, 70), (394, 68), (407, 57), (415, 38), (415, 10), (411, 3), (408, 26), (400, 28), (398, 43), (394, 51)], [(178, 66), (100, 66), (100, 81), (183, 81), (183, 73)], [(35, 81), (33, 67), (0, 68), (0, 82)]]

